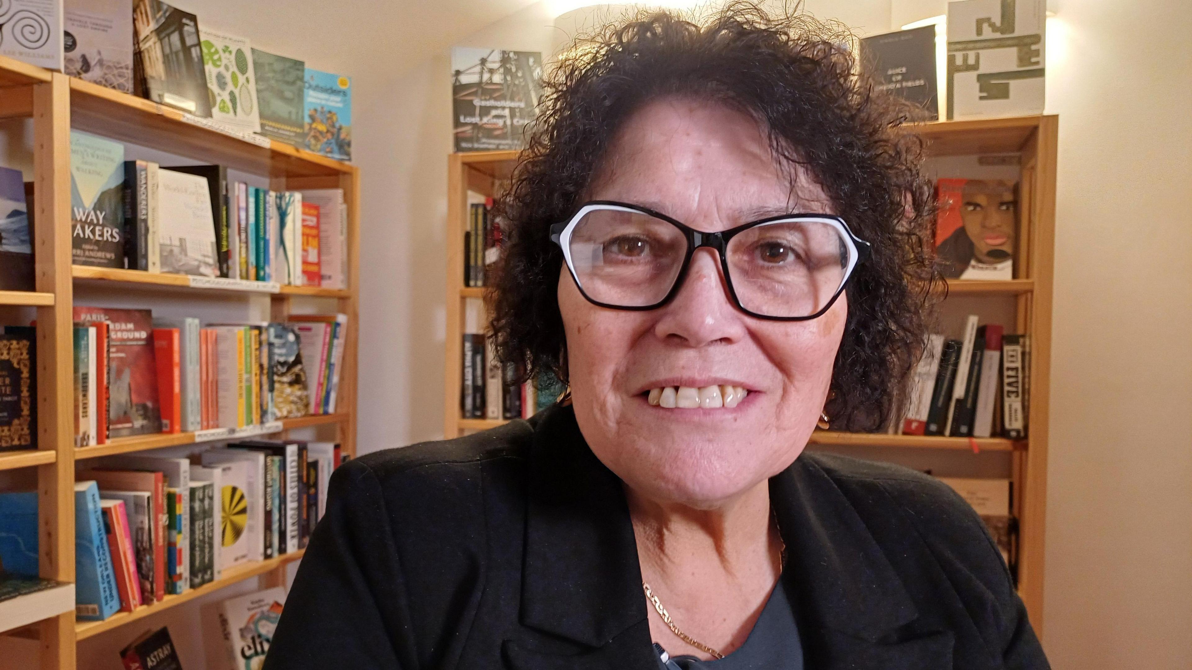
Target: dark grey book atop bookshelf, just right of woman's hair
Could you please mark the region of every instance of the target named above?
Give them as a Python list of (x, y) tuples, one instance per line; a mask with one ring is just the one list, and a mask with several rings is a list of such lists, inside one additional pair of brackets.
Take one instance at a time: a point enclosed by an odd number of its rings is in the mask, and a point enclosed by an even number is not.
[(915, 120), (938, 120), (936, 26), (927, 25), (861, 39), (862, 72), (874, 89), (902, 98), (921, 110)]

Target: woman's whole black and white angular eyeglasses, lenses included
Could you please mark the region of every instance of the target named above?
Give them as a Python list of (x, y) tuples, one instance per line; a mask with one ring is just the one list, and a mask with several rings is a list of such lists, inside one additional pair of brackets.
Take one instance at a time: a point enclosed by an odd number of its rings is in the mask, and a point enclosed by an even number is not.
[(832, 215), (790, 213), (720, 232), (695, 230), (627, 203), (592, 200), (551, 227), (576, 286), (602, 308), (652, 310), (678, 293), (695, 250), (720, 256), (728, 294), (745, 314), (807, 321), (828, 310), (869, 243)]

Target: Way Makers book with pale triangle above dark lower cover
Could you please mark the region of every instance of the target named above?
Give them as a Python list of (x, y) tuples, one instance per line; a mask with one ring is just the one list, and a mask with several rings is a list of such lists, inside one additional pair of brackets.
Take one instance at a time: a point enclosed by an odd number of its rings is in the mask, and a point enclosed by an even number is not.
[(124, 144), (70, 131), (70, 247), (75, 265), (124, 267)]

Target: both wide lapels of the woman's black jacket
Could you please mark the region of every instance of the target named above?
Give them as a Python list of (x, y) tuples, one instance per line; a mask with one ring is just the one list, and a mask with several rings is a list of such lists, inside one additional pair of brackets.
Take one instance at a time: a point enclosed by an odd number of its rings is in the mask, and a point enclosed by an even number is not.
[[(621, 480), (591, 452), (570, 407), (532, 423), (522, 624), (592, 647), (646, 619)], [(801, 627), (875, 641), (918, 614), (845, 495), (799, 458), (770, 480)], [(645, 627), (642, 627), (645, 628)], [(641, 641), (648, 647), (648, 628)], [(802, 631), (806, 637), (808, 631)]]

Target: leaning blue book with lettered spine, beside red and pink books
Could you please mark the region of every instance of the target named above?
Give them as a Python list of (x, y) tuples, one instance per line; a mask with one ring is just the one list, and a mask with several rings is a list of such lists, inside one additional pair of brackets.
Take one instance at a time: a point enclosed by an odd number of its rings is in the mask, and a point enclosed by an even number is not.
[(95, 482), (75, 483), (75, 616), (103, 621), (120, 609)]

